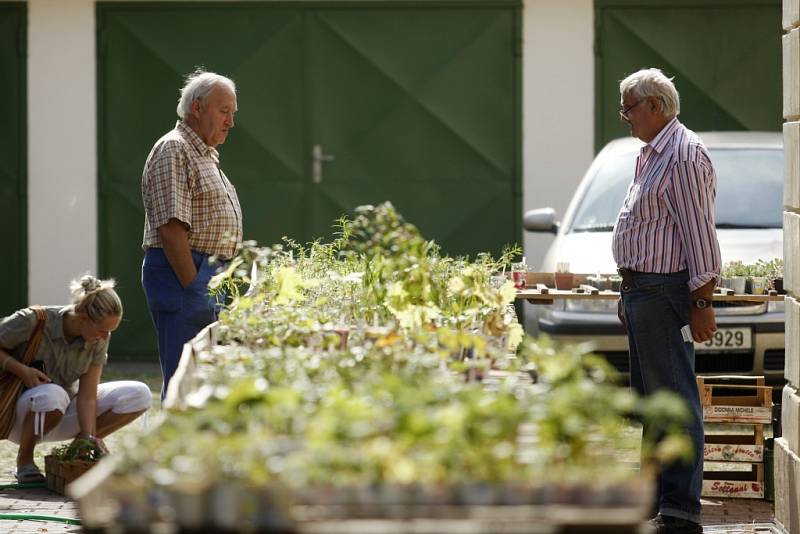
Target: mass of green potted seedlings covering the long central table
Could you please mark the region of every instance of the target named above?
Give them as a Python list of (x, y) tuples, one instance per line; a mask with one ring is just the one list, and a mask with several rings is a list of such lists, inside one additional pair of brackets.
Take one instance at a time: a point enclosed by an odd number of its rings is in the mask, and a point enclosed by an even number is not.
[(126, 446), (119, 469), (297, 489), (615, 469), (638, 403), (584, 347), (523, 342), (513, 284), (497, 275), (518, 247), (442, 256), (388, 203), (338, 227), (330, 243), (244, 248), (218, 281), (240, 291), (220, 345), (197, 354), (188, 409)]

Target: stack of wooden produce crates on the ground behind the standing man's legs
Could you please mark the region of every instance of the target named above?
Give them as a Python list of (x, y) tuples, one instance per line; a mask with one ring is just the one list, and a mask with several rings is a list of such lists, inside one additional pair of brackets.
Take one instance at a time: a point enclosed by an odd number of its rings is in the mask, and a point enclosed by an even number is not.
[(772, 388), (764, 377), (698, 377), (706, 432), (703, 496), (764, 498), (764, 425), (772, 420)]

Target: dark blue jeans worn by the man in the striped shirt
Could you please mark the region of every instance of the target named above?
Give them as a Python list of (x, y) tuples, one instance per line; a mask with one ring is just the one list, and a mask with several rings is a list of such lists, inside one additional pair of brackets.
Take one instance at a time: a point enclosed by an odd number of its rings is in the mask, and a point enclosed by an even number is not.
[[(685, 431), (692, 440), (693, 461), (675, 462), (660, 473), (658, 511), (699, 523), (703, 414), (694, 372), (694, 344), (685, 342), (680, 332), (681, 327), (689, 324), (688, 281), (686, 271), (636, 273), (633, 287), (622, 292), (622, 302), (628, 327), (631, 386), (642, 396), (658, 390), (672, 391), (689, 404), (692, 416)], [(648, 427), (644, 428), (647, 431)]]

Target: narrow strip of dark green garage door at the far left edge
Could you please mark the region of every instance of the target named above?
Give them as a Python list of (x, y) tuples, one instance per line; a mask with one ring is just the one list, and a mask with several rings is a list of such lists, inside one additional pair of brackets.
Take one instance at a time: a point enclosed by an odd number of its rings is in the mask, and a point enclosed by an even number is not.
[(0, 3), (0, 317), (28, 300), (25, 4)]

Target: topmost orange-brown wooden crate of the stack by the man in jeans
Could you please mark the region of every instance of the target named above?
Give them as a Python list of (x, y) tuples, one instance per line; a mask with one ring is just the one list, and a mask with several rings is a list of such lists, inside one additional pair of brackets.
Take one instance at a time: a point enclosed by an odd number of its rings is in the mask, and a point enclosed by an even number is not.
[(706, 422), (772, 421), (772, 388), (763, 376), (698, 376), (697, 388)]

